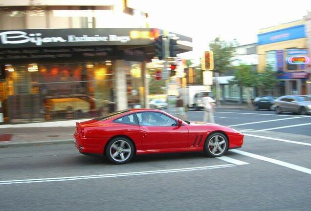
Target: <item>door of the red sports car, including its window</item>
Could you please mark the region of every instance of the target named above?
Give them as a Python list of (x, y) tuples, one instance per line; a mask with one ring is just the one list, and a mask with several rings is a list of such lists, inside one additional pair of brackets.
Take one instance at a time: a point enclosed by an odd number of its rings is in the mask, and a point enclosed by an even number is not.
[(144, 149), (186, 148), (189, 131), (160, 112), (137, 113), (140, 138)]

